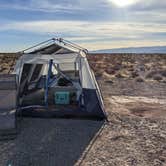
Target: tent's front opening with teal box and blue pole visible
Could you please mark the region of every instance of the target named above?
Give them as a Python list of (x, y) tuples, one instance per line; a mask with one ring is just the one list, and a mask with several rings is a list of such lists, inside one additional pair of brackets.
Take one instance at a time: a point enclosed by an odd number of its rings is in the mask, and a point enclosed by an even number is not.
[(78, 109), (82, 101), (77, 62), (62, 64), (54, 63), (51, 59), (46, 64), (25, 63), (20, 80), (21, 107)]

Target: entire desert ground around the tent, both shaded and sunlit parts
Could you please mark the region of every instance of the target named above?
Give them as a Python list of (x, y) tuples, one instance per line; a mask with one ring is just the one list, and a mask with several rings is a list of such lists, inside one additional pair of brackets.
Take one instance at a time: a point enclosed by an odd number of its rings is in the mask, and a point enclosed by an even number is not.
[[(0, 72), (17, 56), (0, 55)], [(0, 165), (166, 165), (166, 55), (89, 54), (109, 122), (23, 118)], [(10, 70), (11, 68), (11, 70)]]

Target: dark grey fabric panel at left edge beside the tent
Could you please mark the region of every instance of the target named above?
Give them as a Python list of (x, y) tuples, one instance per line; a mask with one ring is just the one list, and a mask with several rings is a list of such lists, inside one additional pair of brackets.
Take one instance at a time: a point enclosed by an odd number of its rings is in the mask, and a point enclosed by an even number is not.
[(0, 75), (0, 139), (16, 133), (16, 103), (16, 75)]

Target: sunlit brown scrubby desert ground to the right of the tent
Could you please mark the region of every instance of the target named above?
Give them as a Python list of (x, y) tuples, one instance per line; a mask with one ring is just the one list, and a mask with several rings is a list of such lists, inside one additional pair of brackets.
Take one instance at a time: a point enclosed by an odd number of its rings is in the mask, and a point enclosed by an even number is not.
[(166, 165), (166, 56), (89, 57), (106, 124), (83, 165)]

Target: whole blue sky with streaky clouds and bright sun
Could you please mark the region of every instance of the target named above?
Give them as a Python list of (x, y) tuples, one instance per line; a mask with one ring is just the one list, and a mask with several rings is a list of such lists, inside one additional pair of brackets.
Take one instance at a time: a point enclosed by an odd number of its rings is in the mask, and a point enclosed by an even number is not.
[(166, 0), (0, 0), (0, 52), (53, 37), (89, 50), (166, 45)]

